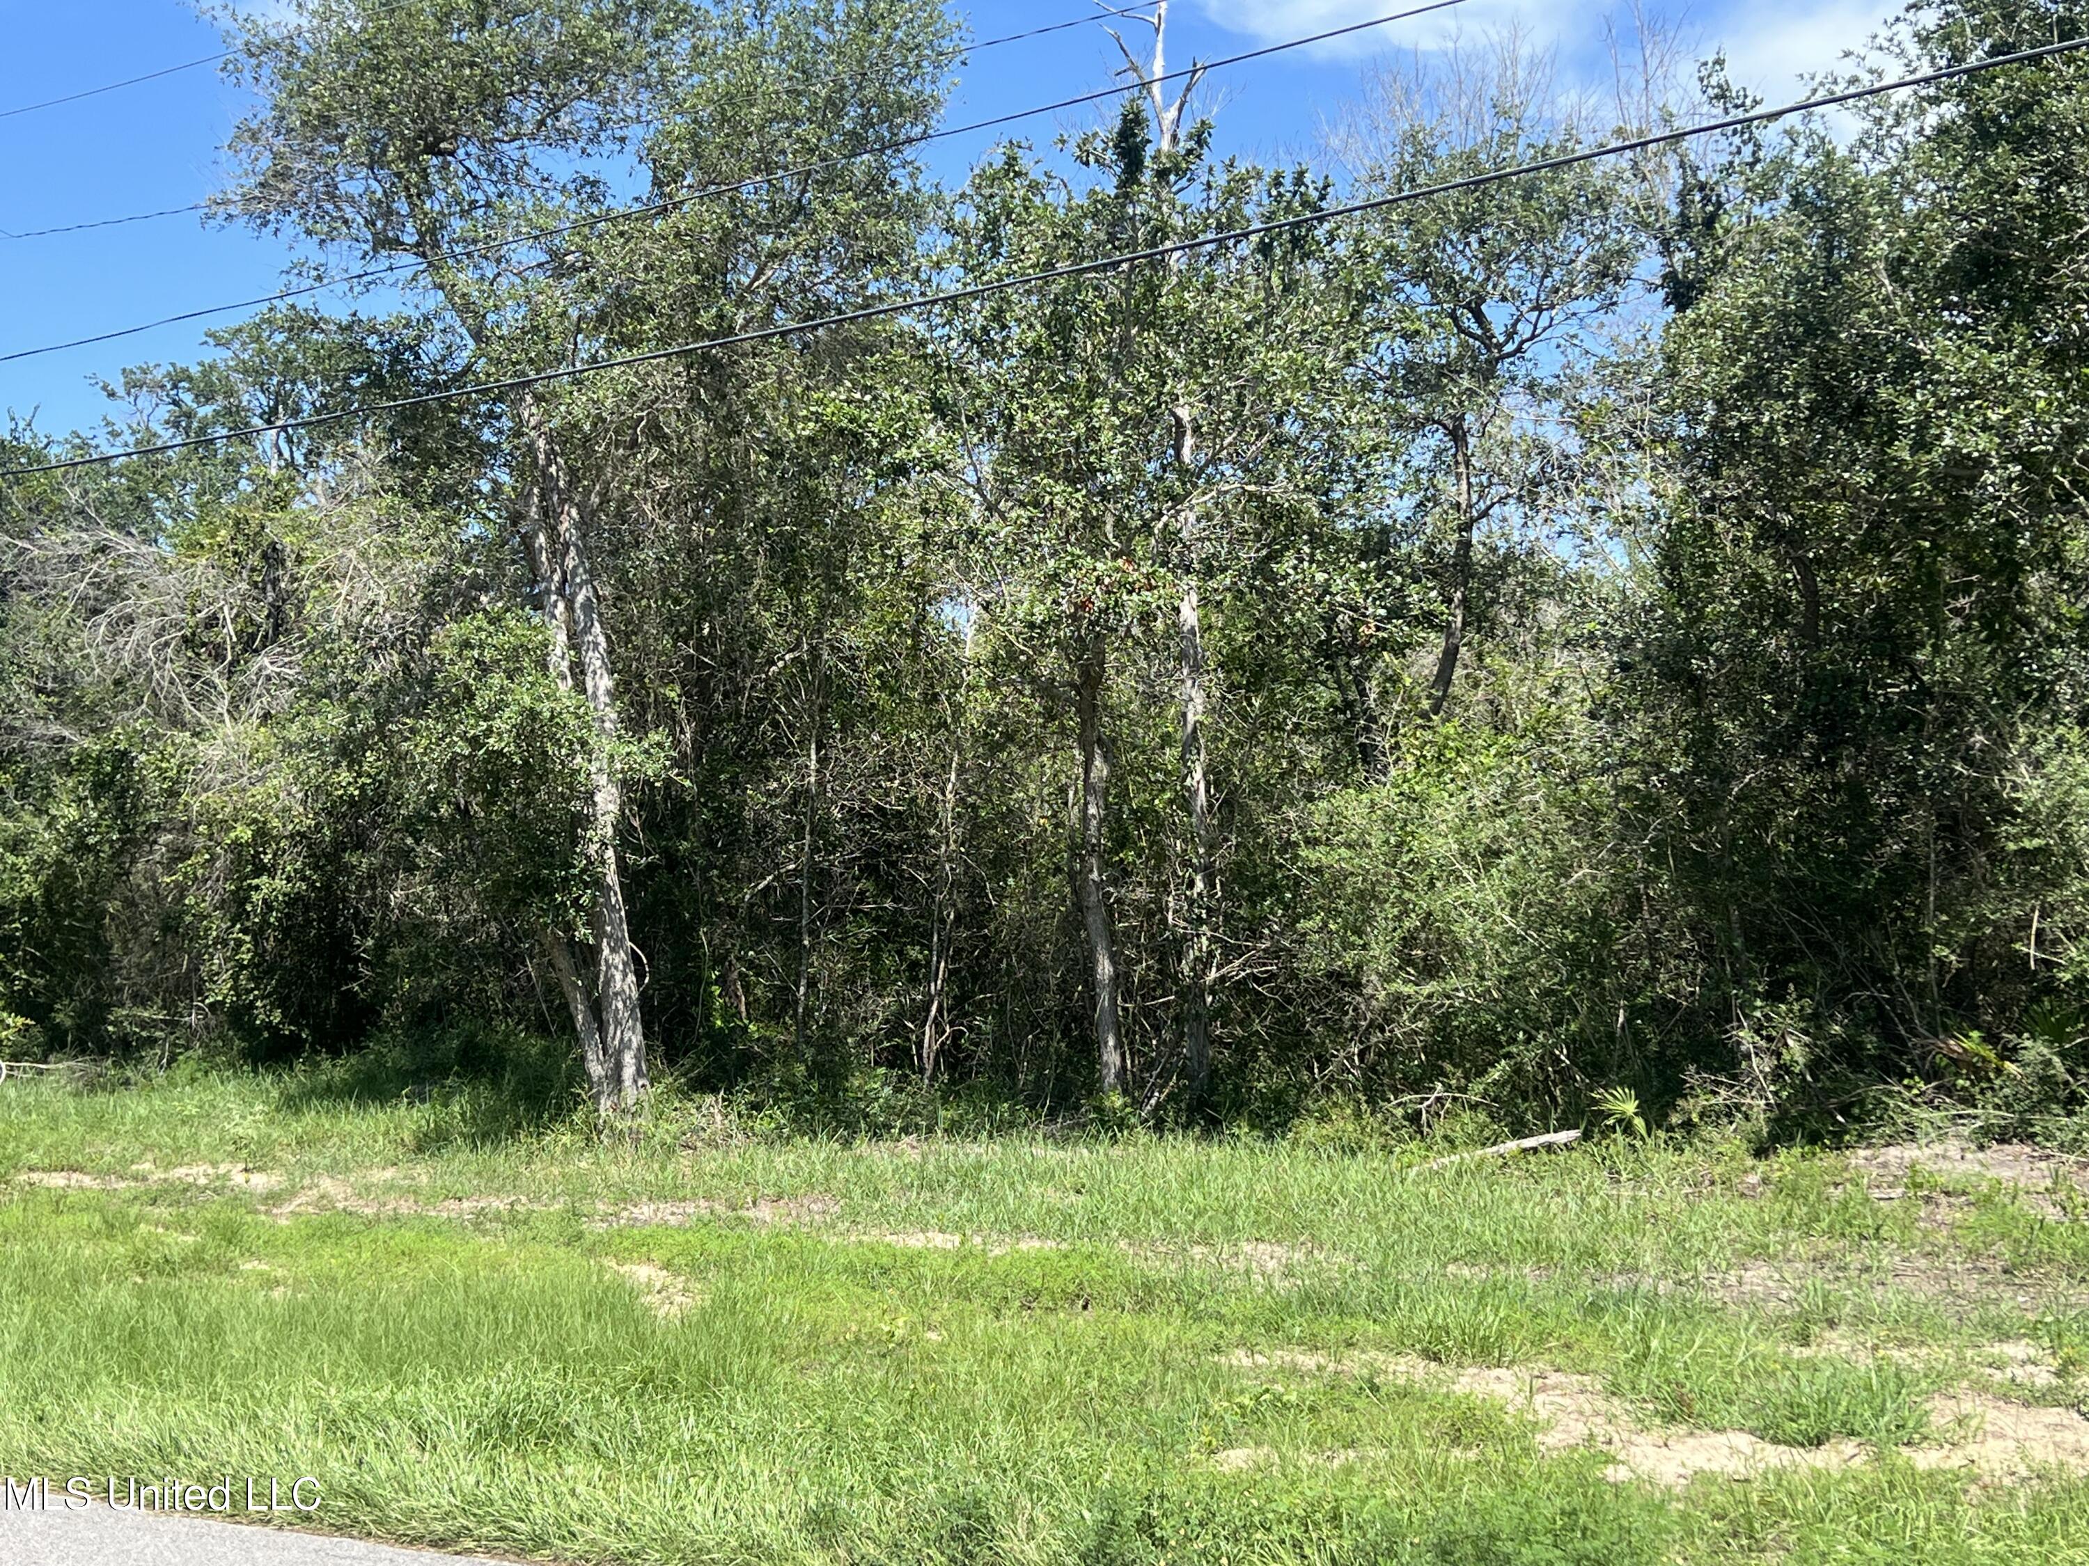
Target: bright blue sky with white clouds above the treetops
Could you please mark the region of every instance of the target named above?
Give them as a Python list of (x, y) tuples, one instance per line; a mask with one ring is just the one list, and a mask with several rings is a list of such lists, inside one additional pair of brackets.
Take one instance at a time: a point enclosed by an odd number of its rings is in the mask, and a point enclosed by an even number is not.
[[(1019, 31), (1082, 15), (1088, 0), (959, 0), (973, 33)], [(1648, 15), (1682, 29), (1694, 52), (1723, 48), (1736, 77), (1771, 100), (1797, 96), (1801, 73), (1836, 56), (1899, 6), (1891, 0), (1642, 0)], [(1404, 8), (1404, 0), (1174, 0), (1170, 58), (1214, 58), (1258, 44), (1339, 27)], [(1604, 19), (1629, 15), (1588, 0), (1466, 0), (1458, 27), (1519, 27), (1558, 52), (1563, 75), (1604, 69)], [(1439, 46), (1452, 23), (1431, 19), (1364, 33), (1341, 46), (1285, 54), (1212, 77), (1226, 150), (1283, 159), (1310, 152), (1320, 125), (1387, 50)], [(221, 182), (219, 146), (242, 96), (213, 69), (182, 71), (121, 92), (4, 115), (104, 81), (157, 71), (217, 50), (215, 27), (182, 0), (0, 0), (0, 230), (23, 232), (100, 217), (182, 207)], [(1034, 44), (982, 52), (961, 75), (953, 119), (984, 119), (1109, 84), (1116, 50), (1101, 29), (1074, 29)], [(1063, 115), (1057, 127), (1093, 121)], [(1053, 121), (1024, 127), (1044, 140)], [(1001, 132), (1007, 136), (1011, 132)], [(948, 180), (994, 136), (938, 144), (934, 167)], [(278, 240), (207, 226), (196, 215), (98, 228), (48, 238), (0, 238), (0, 353), (247, 299), (278, 286), (290, 259)], [(320, 296), (324, 299), (324, 296)], [(230, 319), (230, 317), (228, 317)], [(92, 426), (107, 403), (94, 390), (127, 363), (196, 357), (211, 322), (148, 336), (0, 363), (0, 407), (36, 411), (38, 428)]]

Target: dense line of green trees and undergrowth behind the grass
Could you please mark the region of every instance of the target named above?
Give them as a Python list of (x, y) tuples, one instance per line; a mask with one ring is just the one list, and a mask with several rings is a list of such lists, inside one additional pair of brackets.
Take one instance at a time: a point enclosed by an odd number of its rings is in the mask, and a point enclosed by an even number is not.
[[(125, 374), (100, 438), (848, 315), (1742, 102), (1717, 63), (1667, 92), (1652, 48), (1598, 104), (1469, 44), (1368, 84), (1324, 167), (1260, 169), (1155, 79), (1164, 10), (1122, 115), (961, 190), (915, 150), (959, 42), (930, 0), (240, 21), (219, 215), (403, 286)], [(2083, 31), (1941, 0), (1880, 65)], [(1853, 1115), (1882, 1084), (2066, 1113), (2085, 234), (2089, 67), (2056, 56), (4, 480), (8, 1050), (539, 1034), (606, 1111), (673, 1071), (1174, 1123), (1606, 1088)]]

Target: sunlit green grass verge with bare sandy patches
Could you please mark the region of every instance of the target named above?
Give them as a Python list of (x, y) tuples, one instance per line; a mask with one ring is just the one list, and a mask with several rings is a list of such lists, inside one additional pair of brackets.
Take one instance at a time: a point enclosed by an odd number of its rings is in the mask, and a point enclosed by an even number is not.
[(2089, 1562), (2074, 1188), (1418, 1157), (6, 1084), (0, 1472), (568, 1562)]

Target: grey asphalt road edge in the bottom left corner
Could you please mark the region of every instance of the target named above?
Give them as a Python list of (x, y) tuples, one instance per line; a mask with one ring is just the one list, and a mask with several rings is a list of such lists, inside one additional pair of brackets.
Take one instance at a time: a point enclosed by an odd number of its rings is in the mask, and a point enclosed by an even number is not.
[(42, 1512), (0, 1510), (0, 1566), (439, 1566), (466, 1560), (485, 1558), (430, 1556), (207, 1518), (111, 1512), (107, 1505), (67, 1512), (58, 1495)]

